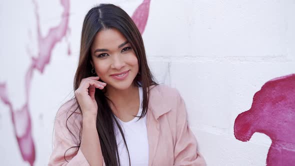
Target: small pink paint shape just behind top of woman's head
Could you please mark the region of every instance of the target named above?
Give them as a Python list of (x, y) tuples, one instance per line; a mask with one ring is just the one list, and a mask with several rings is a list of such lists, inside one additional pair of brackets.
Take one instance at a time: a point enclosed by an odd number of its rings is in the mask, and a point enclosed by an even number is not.
[(149, 3), (150, 0), (143, 0), (143, 2), (135, 9), (131, 16), (141, 34), (143, 33), (147, 22)]

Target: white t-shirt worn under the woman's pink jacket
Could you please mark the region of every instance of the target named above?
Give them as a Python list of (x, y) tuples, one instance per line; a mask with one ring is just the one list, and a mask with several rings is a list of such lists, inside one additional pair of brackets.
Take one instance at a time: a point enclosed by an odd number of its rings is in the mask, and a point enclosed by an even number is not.
[[(139, 110), (137, 116), (142, 112), (142, 87), (138, 87), (139, 91)], [(132, 120), (124, 122), (117, 118), (124, 133), (126, 144), (129, 150), (130, 163), (132, 166), (148, 165), (148, 140), (146, 130), (146, 116), (140, 118), (134, 117)], [(138, 121), (137, 121), (138, 120)], [(117, 126), (115, 125), (115, 135), (120, 157), (120, 165), (129, 165), (128, 152), (124, 144), (124, 140)]]

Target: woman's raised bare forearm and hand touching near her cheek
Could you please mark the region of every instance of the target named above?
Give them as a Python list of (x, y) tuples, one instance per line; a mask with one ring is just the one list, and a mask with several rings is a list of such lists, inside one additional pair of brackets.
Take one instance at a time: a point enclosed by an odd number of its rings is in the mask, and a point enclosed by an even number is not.
[(81, 151), (90, 165), (102, 166), (103, 157), (96, 129), (97, 101), (94, 93), (96, 88), (103, 89), (106, 83), (98, 79), (98, 76), (83, 78), (74, 94), (83, 114)]

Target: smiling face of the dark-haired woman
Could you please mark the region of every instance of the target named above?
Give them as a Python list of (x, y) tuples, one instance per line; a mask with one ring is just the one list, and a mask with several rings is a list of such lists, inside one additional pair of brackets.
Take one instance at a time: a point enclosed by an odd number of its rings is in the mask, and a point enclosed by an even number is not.
[(115, 28), (97, 32), (90, 48), (96, 74), (106, 87), (127, 89), (138, 73), (137, 57), (125, 36)]

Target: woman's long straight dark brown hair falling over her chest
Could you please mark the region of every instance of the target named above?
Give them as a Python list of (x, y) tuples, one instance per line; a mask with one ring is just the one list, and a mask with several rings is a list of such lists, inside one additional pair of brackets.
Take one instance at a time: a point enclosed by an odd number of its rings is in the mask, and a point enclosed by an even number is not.
[[(138, 74), (134, 78), (134, 83), (137, 86), (142, 86), (143, 101), (142, 105), (140, 105), (142, 106), (142, 113), (139, 116), (139, 118), (142, 118), (143, 116), (145, 116), (148, 108), (149, 86), (157, 85), (157, 83), (154, 81), (154, 78), (147, 65), (143, 40), (139, 30), (137, 29), (135, 23), (130, 18), (130, 16), (118, 6), (115, 6), (113, 4), (99, 4), (98, 6), (91, 8), (86, 14), (82, 27), (80, 56), (78, 67), (74, 76), (73, 88), (74, 90), (78, 88), (82, 78), (93, 76), (93, 74), (91, 73), (92, 65), (90, 63), (90, 60), (92, 60), (92, 57), (90, 54), (90, 47), (96, 33), (99, 30), (107, 28), (115, 28), (119, 30), (126, 37), (137, 57)], [(77, 108), (79, 108), (78, 111), (80, 111), (80, 106), (77, 103), (75, 97), (73, 97), (72, 100), (75, 101), (74, 103), (77, 104)], [(106, 165), (119, 165), (119, 155), (115, 139), (114, 125), (117, 125), (117, 127), (119, 128), (119, 131), (123, 137), (123, 141), (126, 145), (124, 134), (110, 108), (110, 100), (104, 95), (104, 92), (102, 90), (97, 88), (95, 89), (95, 100), (98, 106), (96, 129), (99, 135), (101, 152), (104, 162)], [(74, 112), (75, 111), (70, 112), (68, 118)], [(68, 118), (66, 122), (68, 121)], [(79, 142), (77, 146), (74, 147), (79, 148), (80, 146), (80, 134), (81, 132), (79, 133)], [(127, 152), (129, 155), (128, 148)]]

